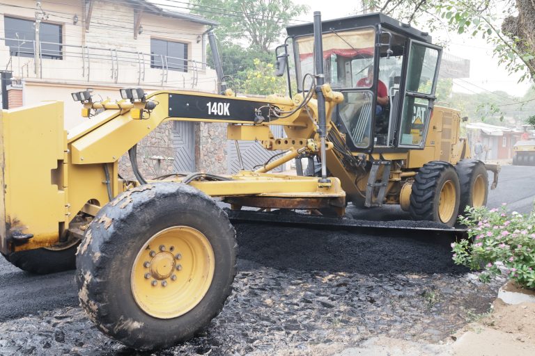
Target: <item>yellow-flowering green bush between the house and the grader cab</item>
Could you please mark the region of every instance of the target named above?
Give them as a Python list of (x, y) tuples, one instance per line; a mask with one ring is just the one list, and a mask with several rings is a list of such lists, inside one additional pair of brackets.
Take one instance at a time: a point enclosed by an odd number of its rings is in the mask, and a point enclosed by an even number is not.
[(245, 94), (285, 95), (286, 81), (284, 77), (274, 76), (274, 65), (254, 59), (254, 69), (247, 70), (242, 90)]

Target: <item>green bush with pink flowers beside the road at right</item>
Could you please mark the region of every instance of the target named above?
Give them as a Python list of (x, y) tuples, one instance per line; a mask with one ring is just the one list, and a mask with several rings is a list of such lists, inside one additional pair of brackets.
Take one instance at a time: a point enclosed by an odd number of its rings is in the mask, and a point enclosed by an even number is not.
[(472, 270), (483, 268), (479, 275), (483, 282), (505, 268), (517, 284), (535, 289), (535, 211), (527, 216), (509, 213), (505, 204), (500, 209), (467, 211), (460, 222), (468, 227), (470, 240), (451, 244), (453, 261)]

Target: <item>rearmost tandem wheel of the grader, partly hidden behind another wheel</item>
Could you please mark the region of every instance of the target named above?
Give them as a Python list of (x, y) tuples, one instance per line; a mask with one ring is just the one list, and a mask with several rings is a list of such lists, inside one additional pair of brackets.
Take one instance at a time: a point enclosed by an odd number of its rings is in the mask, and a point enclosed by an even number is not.
[(455, 166), (460, 184), (459, 213), (464, 214), (467, 207), (482, 207), (487, 204), (488, 173), (483, 162), (476, 159), (463, 159)]

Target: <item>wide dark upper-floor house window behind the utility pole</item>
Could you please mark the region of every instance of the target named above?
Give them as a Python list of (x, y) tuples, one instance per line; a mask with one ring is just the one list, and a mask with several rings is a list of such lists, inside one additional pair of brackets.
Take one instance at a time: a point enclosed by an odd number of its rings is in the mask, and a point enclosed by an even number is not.
[[(11, 56), (33, 57), (36, 40), (35, 22), (29, 19), (3, 17), (6, 46)], [(41, 58), (63, 59), (63, 29), (61, 25), (41, 22), (39, 40), (41, 42)]]

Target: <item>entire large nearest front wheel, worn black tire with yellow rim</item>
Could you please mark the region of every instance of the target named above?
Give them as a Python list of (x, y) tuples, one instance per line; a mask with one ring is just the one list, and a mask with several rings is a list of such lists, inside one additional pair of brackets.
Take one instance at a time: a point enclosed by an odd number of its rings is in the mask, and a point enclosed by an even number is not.
[(236, 273), (235, 230), (208, 195), (156, 183), (103, 207), (77, 255), (79, 299), (109, 337), (137, 350), (185, 341), (221, 311)]

